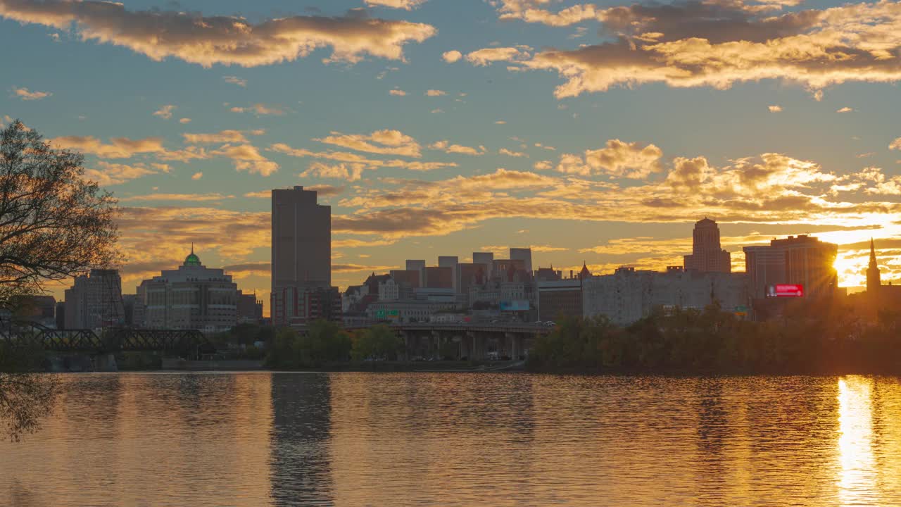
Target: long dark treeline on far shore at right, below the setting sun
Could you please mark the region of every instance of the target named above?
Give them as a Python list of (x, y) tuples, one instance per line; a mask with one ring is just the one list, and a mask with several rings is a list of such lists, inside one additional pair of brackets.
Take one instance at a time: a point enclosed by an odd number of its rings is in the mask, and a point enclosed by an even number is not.
[(527, 368), (543, 372), (901, 373), (901, 312), (865, 320), (832, 300), (789, 304), (753, 322), (716, 306), (657, 311), (628, 327), (561, 318), (536, 339)]

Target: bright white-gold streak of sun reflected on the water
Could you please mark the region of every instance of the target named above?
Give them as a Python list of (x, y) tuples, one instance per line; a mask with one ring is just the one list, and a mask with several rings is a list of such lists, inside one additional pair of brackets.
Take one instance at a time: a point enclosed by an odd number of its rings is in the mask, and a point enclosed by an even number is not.
[(842, 505), (874, 505), (875, 459), (872, 449), (872, 380), (851, 375), (839, 379), (839, 498)]

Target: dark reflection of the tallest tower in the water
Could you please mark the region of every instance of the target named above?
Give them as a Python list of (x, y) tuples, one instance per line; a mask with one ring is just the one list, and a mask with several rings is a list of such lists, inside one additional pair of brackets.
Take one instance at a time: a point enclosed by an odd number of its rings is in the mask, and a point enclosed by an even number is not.
[(332, 505), (328, 373), (272, 373), (269, 495), (277, 505)]

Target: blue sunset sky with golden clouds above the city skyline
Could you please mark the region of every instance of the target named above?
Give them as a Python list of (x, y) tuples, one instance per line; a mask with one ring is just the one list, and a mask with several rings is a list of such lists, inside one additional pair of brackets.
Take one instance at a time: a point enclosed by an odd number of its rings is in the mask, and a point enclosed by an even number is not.
[(269, 190), (332, 206), (332, 281), (505, 255), (663, 269), (696, 220), (901, 274), (901, 2), (0, 0), (0, 123), (86, 153), (123, 292), (191, 244), (267, 301)]

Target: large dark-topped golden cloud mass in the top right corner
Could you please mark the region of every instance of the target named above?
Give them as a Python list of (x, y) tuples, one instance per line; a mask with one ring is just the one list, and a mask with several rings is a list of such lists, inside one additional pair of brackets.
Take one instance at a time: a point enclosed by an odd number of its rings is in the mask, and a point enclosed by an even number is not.
[(742, 2), (583, 10), (576, 17), (596, 18), (614, 41), (506, 60), (515, 70), (557, 71), (566, 81), (554, 92), (558, 98), (653, 82), (724, 89), (736, 82), (784, 79), (821, 99), (822, 88), (830, 85), (901, 79), (899, 5), (883, 0), (780, 15)]

